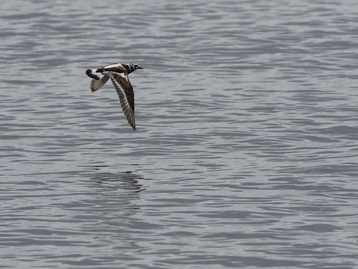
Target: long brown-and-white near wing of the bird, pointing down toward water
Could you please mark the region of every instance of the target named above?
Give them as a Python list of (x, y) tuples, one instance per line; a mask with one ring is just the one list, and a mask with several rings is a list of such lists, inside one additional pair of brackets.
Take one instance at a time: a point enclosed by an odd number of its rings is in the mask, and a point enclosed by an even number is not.
[(135, 131), (134, 118), (134, 91), (129, 82), (127, 73), (118, 73), (107, 71), (119, 97), (122, 110), (127, 118), (128, 123)]

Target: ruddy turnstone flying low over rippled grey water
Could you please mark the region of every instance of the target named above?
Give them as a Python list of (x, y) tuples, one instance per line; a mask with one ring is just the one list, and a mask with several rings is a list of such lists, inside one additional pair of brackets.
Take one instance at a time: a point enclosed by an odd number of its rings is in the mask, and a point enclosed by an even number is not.
[(121, 102), (122, 110), (128, 123), (135, 131), (134, 119), (134, 91), (128, 79), (128, 74), (137, 69), (143, 69), (135, 63), (110, 64), (98, 69), (87, 69), (88, 77), (93, 78), (89, 88), (92, 92), (102, 88), (108, 79), (111, 79)]

